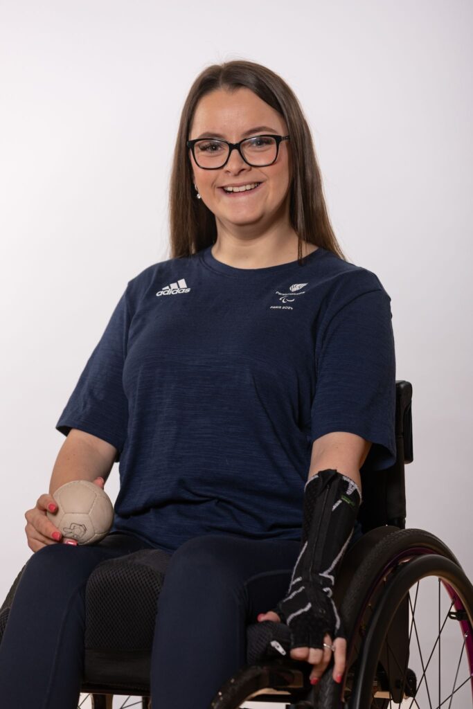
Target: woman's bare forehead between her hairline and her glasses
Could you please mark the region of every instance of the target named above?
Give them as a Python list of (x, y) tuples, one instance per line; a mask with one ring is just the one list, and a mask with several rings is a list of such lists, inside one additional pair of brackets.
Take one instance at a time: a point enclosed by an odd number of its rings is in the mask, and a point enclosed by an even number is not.
[(236, 139), (256, 125), (267, 125), (277, 133), (286, 130), (284, 118), (250, 89), (216, 89), (197, 104), (189, 138), (208, 132)]

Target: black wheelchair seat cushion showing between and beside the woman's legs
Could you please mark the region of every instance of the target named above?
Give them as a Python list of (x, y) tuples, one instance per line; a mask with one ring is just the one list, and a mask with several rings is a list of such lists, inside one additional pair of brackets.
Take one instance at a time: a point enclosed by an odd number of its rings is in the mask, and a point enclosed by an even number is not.
[[(87, 691), (94, 687), (148, 691), (157, 603), (169, 559), (160, 549), (140, 549), (101, 562), (92, 571), (85, 590)], [(23, 569), (0, 610), (0, 642)], [(247, 664), (284, 657), (282, 649), (289, 652), (289, 644), (289, 627), (282, 623), (248, 625)]]

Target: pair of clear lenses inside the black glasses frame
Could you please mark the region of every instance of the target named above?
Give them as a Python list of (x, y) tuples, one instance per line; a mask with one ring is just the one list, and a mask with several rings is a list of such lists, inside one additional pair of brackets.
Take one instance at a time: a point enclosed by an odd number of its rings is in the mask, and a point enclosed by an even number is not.
[[(203, 138), (194, 146), (196, 163), (200, 167), (221, 167), (228, 157), (230, 147), (222, 140)], [(276, 160), (277, 143), (274, 138), (257, 136), (247, 138), (241, 144), (241, 152), (245, 160), (252, 165), (267, 165)]]

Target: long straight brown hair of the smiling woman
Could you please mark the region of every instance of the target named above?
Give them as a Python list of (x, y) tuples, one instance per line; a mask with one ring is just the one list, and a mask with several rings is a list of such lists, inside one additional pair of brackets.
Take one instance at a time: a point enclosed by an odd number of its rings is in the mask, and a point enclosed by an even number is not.
[(278, 74), (245, 60), (213, 64), (204, 69), (192, 84), (182, 108), (169, 185), (171, 257), (193, 255), (216, 241), (215, 216), (201, 199), (196, 199), (186, 144), (194, 111), (202, 96), (215, 89), (235, 91), (240, 86), (253, 91), (286, 121), (291, 136), (294, 174), (290, 188), (289, 219), (299, 237), (299, 261), (302, 262), (304, 240), (346, 261), (330, 225), (311, 130), (299, 100)]

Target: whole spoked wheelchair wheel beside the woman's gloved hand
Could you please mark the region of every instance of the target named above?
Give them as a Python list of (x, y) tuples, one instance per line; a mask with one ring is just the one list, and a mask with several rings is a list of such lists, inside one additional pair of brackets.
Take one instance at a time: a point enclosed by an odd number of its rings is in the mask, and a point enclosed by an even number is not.
[(360, 564), (340, 615), (347, 671), (340, 686), (325, 672), (318, 709), (472, 707), (473, 586), (437, 537), (391, 527)]

